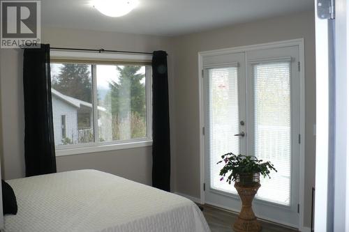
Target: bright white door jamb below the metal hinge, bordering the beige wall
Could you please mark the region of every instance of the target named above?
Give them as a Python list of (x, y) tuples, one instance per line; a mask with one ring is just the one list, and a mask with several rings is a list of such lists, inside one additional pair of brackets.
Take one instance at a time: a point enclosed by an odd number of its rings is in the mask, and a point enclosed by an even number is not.
[[(334, 192), (334, 182), (329, 183), (327, 180), (332, 171), (329, 170), (329, 107), (330, 95), (332, 90), (329, 86), (333, 85), (333, 65), (331, 52), (332, 25), (327, 20), (320, 20), (317, 16), (317, 2), (315, 1), (315, 59), (316, 59), (316, 160), (315, 160), (315, 231), (327, 231), (333, 227), (333, 213), (328, 212), (328, 203), (333, 198), (333, 193), (329, 194), (328, 190)], [(330, 42), (332, 41), (332, 42)], [(333, 112), (332, 112), (333, 113)], [(333, 120), (333, 119), (332, 119)], [(334, 125), (334, 122), (331, 123)], [(333, 136), (332, 136), (333, 137)], [(334, 144), (332, 144), (334, 146)], [(333, 148), (332, 148), (333, 149)], [(331, 165), (332, 166), (332, 165)], [(332, 192), (331, 191), (331, 192)], [(329, 219), (328, 217), (332, 217)], [(344, 230), (343, 230), (344, 231)]]

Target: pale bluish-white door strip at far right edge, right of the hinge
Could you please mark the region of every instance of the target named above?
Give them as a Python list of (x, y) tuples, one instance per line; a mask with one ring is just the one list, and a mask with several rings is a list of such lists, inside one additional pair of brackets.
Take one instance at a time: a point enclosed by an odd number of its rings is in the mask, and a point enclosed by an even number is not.
[[(349, 230), (349, 0), (335, 1), (334, 231)], [(331, 57), (329, 58), (331, 59)], [(333, 112), (329, 111), (333, 115)], [(333, 125), (329, 125), (332, 127)], [(318, 176), (315, 176), (318, 178)], [(329, 180), (331, 181), (331, 180)]]

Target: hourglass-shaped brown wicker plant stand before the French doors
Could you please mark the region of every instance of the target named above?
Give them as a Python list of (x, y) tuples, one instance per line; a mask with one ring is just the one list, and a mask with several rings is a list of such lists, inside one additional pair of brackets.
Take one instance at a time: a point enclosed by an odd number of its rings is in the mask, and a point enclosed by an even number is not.
[(234, 223), (233, 229), (236, 232), (258, 232), (262, 230), (260, 223), (257, 222), (257, 218), (252, 210), (252, 201), (260, 188), (259, 183), (250, 187), (235, 183), (234, 187), (237, 189), (237, 193), (242, 200), (242, 209), (240, 211), (237, 220)]

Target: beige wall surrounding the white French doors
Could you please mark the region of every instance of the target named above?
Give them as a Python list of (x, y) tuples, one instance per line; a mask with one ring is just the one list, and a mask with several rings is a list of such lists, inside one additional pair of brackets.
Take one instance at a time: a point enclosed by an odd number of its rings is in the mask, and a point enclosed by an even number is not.
[(310, 224), (311, 187), (315, 175), (315, 25), (313, 12), (259, 20), (171, 38), (177, 130), (176, 191), (200, 197), (198, 52), (264, 42), (304, 38), (306, 86), (305, 224)]

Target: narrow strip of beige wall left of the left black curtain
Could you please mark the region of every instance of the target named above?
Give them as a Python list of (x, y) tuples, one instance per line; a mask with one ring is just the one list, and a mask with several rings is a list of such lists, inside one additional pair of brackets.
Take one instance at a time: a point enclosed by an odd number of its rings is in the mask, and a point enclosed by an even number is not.
[(24, 102), (21, 50), (1, 49), (3, 178), (24, 176)]

